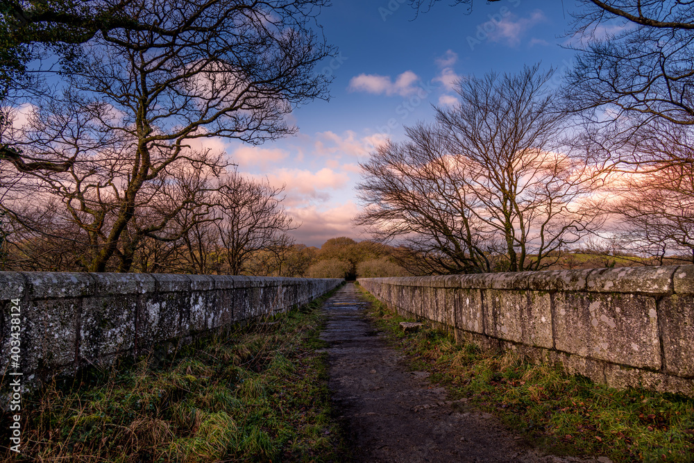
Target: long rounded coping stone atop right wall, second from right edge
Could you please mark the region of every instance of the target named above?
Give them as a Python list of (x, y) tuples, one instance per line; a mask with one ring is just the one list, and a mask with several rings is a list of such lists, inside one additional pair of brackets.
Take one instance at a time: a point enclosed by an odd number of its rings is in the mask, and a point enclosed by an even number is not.
[(650, 293), (672, 292), (670, 280), (677, 267), (619, 267), (593, 271), (586, 278), (590, 292)]

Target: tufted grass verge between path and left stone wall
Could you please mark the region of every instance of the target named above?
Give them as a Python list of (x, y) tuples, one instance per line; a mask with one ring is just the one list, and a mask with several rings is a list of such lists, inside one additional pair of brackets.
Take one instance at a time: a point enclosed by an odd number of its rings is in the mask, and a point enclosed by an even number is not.
[[(343, 461), (321, 302), (23, 398), (24, 462)], [(8, 416), (0, 423), (8, 429)], [(3, 442), (6, 445), (6, 441)]]

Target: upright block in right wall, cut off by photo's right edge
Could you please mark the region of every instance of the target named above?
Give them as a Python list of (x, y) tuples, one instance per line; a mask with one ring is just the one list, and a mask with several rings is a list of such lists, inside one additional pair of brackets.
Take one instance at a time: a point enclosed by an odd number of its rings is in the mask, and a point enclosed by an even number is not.
[(672, 294), (658, 304), (665, 372), (694, 378), (694, 294)]

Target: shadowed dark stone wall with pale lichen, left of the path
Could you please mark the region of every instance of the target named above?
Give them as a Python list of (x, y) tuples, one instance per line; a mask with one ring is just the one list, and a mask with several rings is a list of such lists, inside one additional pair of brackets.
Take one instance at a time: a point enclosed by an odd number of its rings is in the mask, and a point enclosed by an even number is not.
[[(285, 312), (342, 280), (144, 273), (0, 272), (0, 366), (23, 382)], [(14, 303), (12, 300), (15, 300)], [(12, 309), (19, 299), (19, 330)], [(17, 320), (18, 319), (18, 320)], [(8, 369), (19, 332), (19, 369)], [(16, 349), (15, 349), (16, 352)]]

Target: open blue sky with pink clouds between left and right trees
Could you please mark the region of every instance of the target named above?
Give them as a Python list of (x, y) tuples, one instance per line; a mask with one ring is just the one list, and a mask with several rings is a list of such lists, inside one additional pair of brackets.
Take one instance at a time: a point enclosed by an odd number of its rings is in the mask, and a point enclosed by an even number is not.
[(286, 185), (297, 243), (369, 237), (350, 223), (361, 208), (359, 162), (387, 138), (404, 140), (405, 126), (432, 121), (432, 106), (454, 104), (458, 79), (540, 62), (557, 69), (550, 85), (559, 87), (573, 67), (575, 52), (562, 47), (573, 0), (449, 5), (442, 0), (417, 16), (407, 0), (333, 0), (319, 24), (339, 52), (316, 69), (334, 77), (330, 101), (294, 110), (294, 137), (261, 146), (219, 142), (242, 173)]

